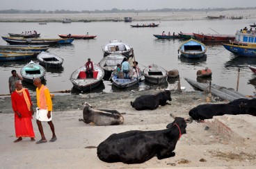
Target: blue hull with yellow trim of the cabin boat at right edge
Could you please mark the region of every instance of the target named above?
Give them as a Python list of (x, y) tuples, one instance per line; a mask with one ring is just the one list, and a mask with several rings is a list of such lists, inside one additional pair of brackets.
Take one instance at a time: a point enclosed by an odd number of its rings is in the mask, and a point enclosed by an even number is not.
[(238, 56), (256, 57), (256, 46), (248, 43), (230, 42), (223, 44), (227, 51), (230, 51)]

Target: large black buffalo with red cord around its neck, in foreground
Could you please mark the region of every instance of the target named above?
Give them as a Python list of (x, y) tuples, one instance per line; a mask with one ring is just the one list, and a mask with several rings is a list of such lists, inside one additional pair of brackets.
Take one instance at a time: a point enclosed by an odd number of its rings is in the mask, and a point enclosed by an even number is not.
[(154, 156), (158, 159), (174, 157), (176, 143), (186, 133), (186, 122), (177, 117), (167, 127), (166, 130), (111, 134), (97, 147), (97, 156), (108, 163), (143, 163)]

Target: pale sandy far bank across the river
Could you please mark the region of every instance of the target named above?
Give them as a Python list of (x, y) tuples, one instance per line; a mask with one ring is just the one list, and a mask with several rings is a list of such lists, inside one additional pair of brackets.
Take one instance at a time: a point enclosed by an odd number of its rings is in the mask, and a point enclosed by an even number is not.
[(226, 18), (243, 16), (243, 19), (255, 19), (255, 10), (225, 10), (196, 12), (154, 12), (154, 13), (79, 13), (79, 14), (0, 14), (1, 22), (61, 22), (64, 18), (77, 22), (83, 21), (124, 21), (132, 17), (133, 21), (187, 21), (203, 20), (207, 16), (225, 15)]

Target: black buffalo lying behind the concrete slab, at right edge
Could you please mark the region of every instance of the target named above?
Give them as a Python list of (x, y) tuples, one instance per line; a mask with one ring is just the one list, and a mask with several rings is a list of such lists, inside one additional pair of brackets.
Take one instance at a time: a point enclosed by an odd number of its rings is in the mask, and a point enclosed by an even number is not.
[(203, 104), (189, 111), (193, 120), (205, 120), (224, 114), (250, 114), (256, 116), (256, 99), (239, 98), (227, 104)]

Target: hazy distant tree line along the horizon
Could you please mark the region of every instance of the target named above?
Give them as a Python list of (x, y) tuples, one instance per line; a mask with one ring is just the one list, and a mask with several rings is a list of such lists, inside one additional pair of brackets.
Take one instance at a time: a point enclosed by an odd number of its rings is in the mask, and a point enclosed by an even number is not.
[(2, 14), (69, 14), (69, 13), (145, 13), (145, 12), (190, 12), (190, 11), (224, 11), (224, 10), (255, 10), (256, 7), (248, 7), (248, 8), (162, 8), (162, 9), (156, 9), (156, 10), (119, 10), (117, 8), (113, 8), (111, 10), (0, 10), (0, 13)]

